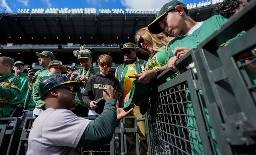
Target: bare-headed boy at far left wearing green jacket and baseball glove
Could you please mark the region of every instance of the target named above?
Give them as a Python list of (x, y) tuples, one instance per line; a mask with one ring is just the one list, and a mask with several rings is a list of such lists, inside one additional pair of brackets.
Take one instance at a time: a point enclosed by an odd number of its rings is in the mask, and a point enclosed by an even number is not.
[(0, 57), (0, 118), (10, 117), (10, 103), (20, 93), (21, 81), (11, 73), (14, 60)]

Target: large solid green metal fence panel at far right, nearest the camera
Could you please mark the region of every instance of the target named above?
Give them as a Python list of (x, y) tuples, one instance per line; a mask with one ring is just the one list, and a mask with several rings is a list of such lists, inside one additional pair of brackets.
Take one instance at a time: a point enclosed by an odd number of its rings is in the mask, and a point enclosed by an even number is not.
[[(255, 57), (255, 12), (256, 1), (252, 1), (192, 55), (222, 155), (256, 154), (256, 86), (246, 69), (255, 59), (239, 60), (242, 54)], [(246, 33), (219, 49), (241, 31)]]

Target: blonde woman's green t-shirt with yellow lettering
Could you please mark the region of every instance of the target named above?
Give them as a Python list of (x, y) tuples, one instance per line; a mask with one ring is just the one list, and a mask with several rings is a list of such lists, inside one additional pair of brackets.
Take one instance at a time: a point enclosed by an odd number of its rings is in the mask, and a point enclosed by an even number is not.
[(165, 51), (165, 45), (163, 45), (153, 57), (150, 57), (145, 66), (146, 70), (153, 70), (154, 68), (160, 68), (167, 64), (168, 53)]

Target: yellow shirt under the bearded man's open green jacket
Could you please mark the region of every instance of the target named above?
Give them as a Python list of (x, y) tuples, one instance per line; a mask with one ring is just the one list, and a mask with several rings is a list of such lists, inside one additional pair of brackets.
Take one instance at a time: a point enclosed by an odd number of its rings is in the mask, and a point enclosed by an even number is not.
[(134, 78), (129, 78), (128, 76), (134, 76), (136, 74), (136, 70), (133, 67), (135, 62), (133, 64), (127, 64), (128, 70), (124, 77), (124, 85), (123, 85), (123, 94), (122, 94), (122, 103), (121, 106), (124, 106), (124, 98), (125, 96), (131, 91), (132, 88), (132, 82), (135, 80)]

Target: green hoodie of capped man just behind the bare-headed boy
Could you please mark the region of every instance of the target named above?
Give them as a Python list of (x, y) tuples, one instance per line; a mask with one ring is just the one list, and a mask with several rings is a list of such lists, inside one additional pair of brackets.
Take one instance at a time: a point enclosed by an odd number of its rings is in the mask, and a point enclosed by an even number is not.
[(27, 73), (22, 73), (18, 75), (19, 79), (21, 80), (21, 87), (20, 87), (20, 93), (17, 95), (17, 97), (12, 102), (11, 106), (15, 107), (18, 104), (22, 103), (21, 100), (25, 96), (25, 93), (27, 89), (29, 89), (29, 86), (27, 85)]

